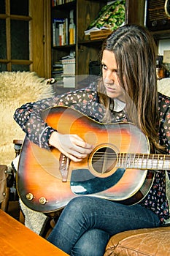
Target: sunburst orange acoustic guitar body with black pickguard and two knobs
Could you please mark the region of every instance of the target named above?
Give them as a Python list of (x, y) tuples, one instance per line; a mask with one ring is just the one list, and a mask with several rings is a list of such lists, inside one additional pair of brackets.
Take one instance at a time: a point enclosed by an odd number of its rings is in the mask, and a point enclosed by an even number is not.
[(93, 144), (94, 149), (82, 162), (76, 163), (56, 148), (39, 148), (26, 137), (17, 181), (18, 194), (28, 208), (44, 213), (57, 211), (80, 195), (130, 205), (147, 194), (152, 173), (124, 165), (128, 153), (150, 150), (146, 136), (134, 124), (100, 124), (77, 110), (59, 106), (45, 110), (42, 118), (58, 132), (79, 135)]

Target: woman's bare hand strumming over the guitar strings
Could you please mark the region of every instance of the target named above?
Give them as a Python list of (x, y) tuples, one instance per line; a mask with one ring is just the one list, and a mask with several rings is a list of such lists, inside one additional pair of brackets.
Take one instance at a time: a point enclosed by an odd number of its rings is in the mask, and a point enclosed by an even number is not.
[(58, 132), (52, 132), (49, 144), (74, 162), (82, 161), (93, 151), (93, 146), (86, 143), (78, 135), (63, 135)]

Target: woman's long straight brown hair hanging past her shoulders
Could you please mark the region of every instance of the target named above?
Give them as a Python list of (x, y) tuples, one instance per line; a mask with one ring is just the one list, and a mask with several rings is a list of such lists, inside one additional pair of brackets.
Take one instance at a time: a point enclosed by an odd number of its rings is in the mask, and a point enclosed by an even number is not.
[[(142, 26), (125, 25), (114, 31), (104, 42), (104, 50), (115, 54), (120, 86), (125, 92), (128, 121), (133, 122), (156, 148), (158, 146), (158, 91), (155, 73), (156, 47), (149, 31)], [(103, 83), (98, 95), (106, 107), (104, 121), (109, 121), (110, 99)]]

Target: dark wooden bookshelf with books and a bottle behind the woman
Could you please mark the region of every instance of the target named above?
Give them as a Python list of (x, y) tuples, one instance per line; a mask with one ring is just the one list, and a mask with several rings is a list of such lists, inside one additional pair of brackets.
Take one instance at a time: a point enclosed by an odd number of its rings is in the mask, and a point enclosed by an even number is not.
[[(58, 91), (70, 91), (72, 88), (77, 88), (74, 83), (74, 77), (77, 75), (88, 75), (89, 65), (97, 63), (99, 59), (99, 53), (101, 45), (108, 34), (102, 34), (101, 37), (93, 37), (85, 35), (85, 30), (95, 20), (100, 12), (101, 8), (106, 6), (106, 0), (51, 0), (51, 23), (52, 23), (52, 77), (59, 80), (58, 74), (63, 72), (66, 85), (58, 82)], [(63, 40), (56, 42), (56, 23), (62, 23), (65, 25), (63, 29)], [(70, 33), (71, 27), (74, 27), (73, 35)], [(55, 23), (55, 25), (54, 25)], [(59, 30), (59, 29), (58, 29)], [(59, 33), (59, 32), (57, 32)], [(63, 43), (62, 43), (63, 42)], [(72, 56), (72, 64), (68, 59), (68, 67), (66, 59), (64, 57)], [(61, 70), (61, 64), (65, 64), (66, 70), (69, 73), (64, 76), (65, 70)], [(72, 84), (68, 83), (68, 75)], [(99, 75), (99, 74), (98, 74)], [(60, 77), (60, 75), (59, 75)]]

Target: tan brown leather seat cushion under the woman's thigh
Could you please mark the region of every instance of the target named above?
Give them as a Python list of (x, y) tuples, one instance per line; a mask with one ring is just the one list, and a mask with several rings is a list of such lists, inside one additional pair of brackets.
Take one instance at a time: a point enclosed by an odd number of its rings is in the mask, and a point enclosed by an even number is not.
[(104, 256), (169, 256), (170, 227), (117, 233), (109, 239)]

